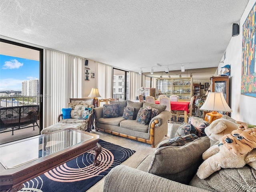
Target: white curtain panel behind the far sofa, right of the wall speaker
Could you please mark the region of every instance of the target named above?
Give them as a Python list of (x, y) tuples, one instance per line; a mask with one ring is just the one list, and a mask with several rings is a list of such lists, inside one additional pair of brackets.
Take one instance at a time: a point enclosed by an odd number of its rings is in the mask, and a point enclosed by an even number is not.
[(97, 88), (101, 98), (112, 98), (113, 68), (102, 63), (97, 63)]

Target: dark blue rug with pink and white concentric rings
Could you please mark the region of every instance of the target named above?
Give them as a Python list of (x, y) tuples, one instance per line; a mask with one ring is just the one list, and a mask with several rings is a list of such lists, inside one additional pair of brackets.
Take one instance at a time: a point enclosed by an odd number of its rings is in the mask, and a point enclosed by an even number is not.
[(19, 192), (85, 192), (112, 168), (127, 160), (134, 150), (103, 140), (99, 166), (93, 165), (94, 150), (78, 156), (36, 178), (24, 183)]

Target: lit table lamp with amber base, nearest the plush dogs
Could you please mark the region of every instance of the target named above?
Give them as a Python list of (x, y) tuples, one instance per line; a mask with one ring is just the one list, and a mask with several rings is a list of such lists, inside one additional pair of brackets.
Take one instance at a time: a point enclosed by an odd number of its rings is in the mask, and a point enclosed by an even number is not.
[(221, 92), (208, 92), (208, 96), (200, 110), (211, 111), (206, 113), (204, 118), (209, 123), (223, 116), (217, 111), (232, 112)]

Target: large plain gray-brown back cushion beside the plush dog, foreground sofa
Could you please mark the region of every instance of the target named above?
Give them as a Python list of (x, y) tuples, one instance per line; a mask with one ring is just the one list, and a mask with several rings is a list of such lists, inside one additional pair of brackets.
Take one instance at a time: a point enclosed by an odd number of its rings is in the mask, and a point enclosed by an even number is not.
[(202, 154), (209, 147), (210, 139), (208, 137), (200, 137), (184, 146), (157, 148), (148, 172), (188, 184), (202, 163)]

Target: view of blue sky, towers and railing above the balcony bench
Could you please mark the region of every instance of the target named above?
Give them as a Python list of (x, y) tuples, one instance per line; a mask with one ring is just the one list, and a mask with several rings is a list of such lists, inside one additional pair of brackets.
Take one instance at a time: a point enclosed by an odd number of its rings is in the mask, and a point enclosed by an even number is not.
[(0, 53), (1, 107), (38, 104), (39, 51), (1, 42)]

